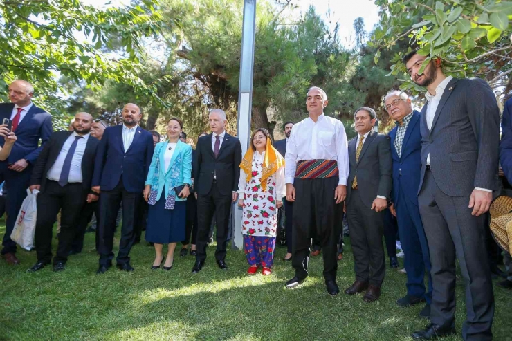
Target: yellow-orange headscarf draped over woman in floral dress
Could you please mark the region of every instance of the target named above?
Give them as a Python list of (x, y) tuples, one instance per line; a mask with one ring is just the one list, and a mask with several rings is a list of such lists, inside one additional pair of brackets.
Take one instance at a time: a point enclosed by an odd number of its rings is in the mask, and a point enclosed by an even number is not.
[[(253, 145), (252, 141), (250, 142), (251, 146), (247, 149), (244, 158), (241, 160), (240, 168), (246, 172), (247, 177), (246, 181), (249, 182), (250, 178), (253, 177)], [(277, 169), (280, 167), (284, 167), (284, 158), (279, 154), (279, 151), (274, 148), (272, 145), (271, 139), (266, 138), (266, 147), (265, 147), (265, 158), (263, 160), (263, 168), (262, 168), (262, 190), (266, 192), (266, 179), (268, 179), (272, 174), (277, 172)]]

